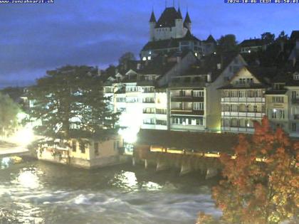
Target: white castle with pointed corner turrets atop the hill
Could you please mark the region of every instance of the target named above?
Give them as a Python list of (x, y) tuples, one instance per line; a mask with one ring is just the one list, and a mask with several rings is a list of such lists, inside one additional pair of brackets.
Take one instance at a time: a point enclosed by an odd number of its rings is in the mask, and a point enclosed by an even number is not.
[(200, 58), (215, 51), (216, 41), (213, 36), (201, 41), (192, 34), (192, 21), (188, 11), (183, 19), (180, 8), (167, 7), (158, 20), (152, 11), (149, 23), (150, 41), (140, 52), (142, 60), (151, 60), (159, 54), (187, 50), (192, 50), (196, 57)]

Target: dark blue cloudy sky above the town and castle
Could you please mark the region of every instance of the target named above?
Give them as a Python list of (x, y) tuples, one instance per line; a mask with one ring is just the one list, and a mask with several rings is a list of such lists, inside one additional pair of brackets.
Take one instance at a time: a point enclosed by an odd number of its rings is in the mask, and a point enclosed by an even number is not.
[[(168, 0), (168, 6), (172, 6)], [(178, 1), (175, 1), (177, 6)], [(223, 0), (180, 1), (187, 5), (195, 36), (234, 33), (238, 41), (270, 31), (299, 29), (299, 4), (224, 4)], [(61, 65), (105, 68), (126, 51), (138, 55), (148, 40), (148, 21), (163, 0), (55, 0), (55, 4), (0, 4), (0, 87), (33, 83)]]

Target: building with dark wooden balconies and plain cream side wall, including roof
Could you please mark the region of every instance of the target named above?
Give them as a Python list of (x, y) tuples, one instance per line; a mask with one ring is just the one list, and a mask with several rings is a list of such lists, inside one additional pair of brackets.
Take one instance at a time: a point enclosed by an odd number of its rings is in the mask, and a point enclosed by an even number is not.
[(210, 55), (186, 73), (172, 78), (169, 92), (169, 129), (220, 131), (221, 107), (217, 88), (234, 70), (246, 65), (241, 55)]

